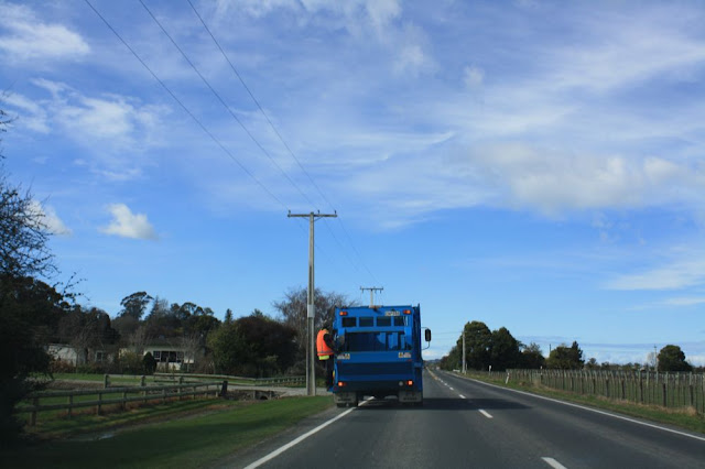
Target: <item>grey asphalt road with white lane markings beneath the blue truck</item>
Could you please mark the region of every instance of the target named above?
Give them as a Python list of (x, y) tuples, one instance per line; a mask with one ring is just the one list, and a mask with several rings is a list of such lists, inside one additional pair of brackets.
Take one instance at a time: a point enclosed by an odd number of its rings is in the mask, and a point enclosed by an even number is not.
[(650, 425), (426, 371), (423, 407), (371, 400), (335, 408), (225, 466), (705, 468), (705, 435)]

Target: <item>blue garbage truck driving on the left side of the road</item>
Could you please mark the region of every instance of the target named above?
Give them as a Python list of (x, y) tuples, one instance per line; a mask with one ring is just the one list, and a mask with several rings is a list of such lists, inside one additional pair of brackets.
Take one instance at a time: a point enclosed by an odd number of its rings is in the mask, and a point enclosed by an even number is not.
[(338, 307), (333, 329), (330, 391), (338, 407), (357, 406), (364, 396), (423, 405), (420, 306)]

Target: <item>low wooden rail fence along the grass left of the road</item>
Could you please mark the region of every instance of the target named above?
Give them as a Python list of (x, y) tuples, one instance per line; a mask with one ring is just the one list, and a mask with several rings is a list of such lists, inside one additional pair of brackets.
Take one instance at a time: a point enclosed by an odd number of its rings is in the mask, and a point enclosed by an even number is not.
[[(105, 382), (109, 378), (106, 375)], [(142, 382), (144, 379), (142, 377)], [(96, 414), (100, 415), (105, 405), (118, 404), (122, 408), (130, 402), (166, 402), (167, 399), (184, 396), (196, 397), (197, 395), (213, 395), (218, 397), (227, 393), (227, 381), (209, 382), (182, 382), (180, 384), (167, 384), (159, 386), (123, 386), (98, 390), (68, 390), (68, 391), (41, 391), (30, 394), (31, 405), (19, 405), (17, 413), (30, 413), (30, 425), (36, 425), (36, 414), (45, 411), (67, 411), (70, 418), (72, 411), (79, 407), (96, 407)], [(113, 397), (116, 396), (116, 397)], [(64, 403), (42, 404), (42, 400), (56, 401), (66, 397)]]

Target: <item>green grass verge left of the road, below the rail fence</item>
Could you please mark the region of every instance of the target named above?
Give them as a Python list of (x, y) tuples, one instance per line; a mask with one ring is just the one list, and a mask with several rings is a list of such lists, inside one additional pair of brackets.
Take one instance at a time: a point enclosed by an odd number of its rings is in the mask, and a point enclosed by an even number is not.
[[(198, 406), (206, 402), (210, 405)], [(80, 416), (72, 421), (47, 423), (54, 427), (45, 428), (45, 435), (66, 436), (77, 428), (102, 432), (102, 435), (25, 443), (1, 451), (0, 461), (3, 467), (13, 468), (212, 466), (237, 450), (295, 425), (304, 417), (333, 406), (329, 396), (249, 403), (204, 400), (200, 403), (191, 401), (150, 406), (141, 416), (133, 416), (132, 419), (126, 417), (127, 421), (121, 419), (122, 414), (116, 414), (105, 417), (102, 422), (101, 417), (96, 416), (85, 416), (86, 421), (80, 422), (84, 418)], [(95, 419), (93, 424), (91, 419)], [(116, 426), (137, 422), (151, 423), (111, 430)]]

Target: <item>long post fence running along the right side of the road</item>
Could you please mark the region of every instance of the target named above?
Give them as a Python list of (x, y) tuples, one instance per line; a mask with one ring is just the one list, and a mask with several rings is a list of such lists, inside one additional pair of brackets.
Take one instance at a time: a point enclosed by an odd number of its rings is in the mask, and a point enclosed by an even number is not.
[[(484, 373), (485, 374), (485, 373)], [(705, 374), (607, 370), (507, 370), (492, 378), (524, 382), (576, 394), (592, 394), (614, 401), (668, 408), (695, 410), (705, 414)]]

